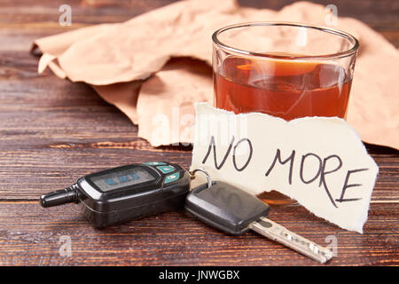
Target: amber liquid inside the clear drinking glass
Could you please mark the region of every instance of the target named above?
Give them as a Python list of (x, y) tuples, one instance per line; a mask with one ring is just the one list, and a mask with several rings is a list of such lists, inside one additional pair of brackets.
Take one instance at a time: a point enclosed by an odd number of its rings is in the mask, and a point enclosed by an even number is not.
[[(351, 85), (351, 78), (336, 64), (278, 59), (230, 57), (214, 78), (216, 107), (287, 121), (304, 116), (345, 118)], [(258, 197), (270, 205), (296, 203), (276, 191)]]

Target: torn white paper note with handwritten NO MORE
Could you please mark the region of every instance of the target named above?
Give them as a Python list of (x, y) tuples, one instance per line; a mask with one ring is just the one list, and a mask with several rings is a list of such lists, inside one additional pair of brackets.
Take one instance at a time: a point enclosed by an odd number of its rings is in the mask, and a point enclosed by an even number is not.
[(379, 171), (356, 131), (337, 117), (286, 122), (198, 103), (192, 170), (258, 194), (276, 190), (317, 217), (363, 233)]

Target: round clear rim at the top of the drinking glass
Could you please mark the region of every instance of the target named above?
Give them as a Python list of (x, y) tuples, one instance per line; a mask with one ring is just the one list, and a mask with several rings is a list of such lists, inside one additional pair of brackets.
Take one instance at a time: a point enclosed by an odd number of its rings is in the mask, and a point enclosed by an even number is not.
[[(228, 44), (222, 43), (217, 37), (217, 36), (219, 36), (219, 34), (223, 33), (226, 30), (229, 30), (231, 28), (245, 28), (245, 27), (253, 27), (253, 26), (287, 26), (287, 27), (295, 27), (295, 28), (312, 28), (312, 29), (317, 29), (322, 32), (333, 34), (335, 36), (344, 37), (349, 41), (349, 43), (352, 43), (353, 46), (350, 49), (348, 49), (348, 51), (340, 51), (340, 52), (328, 53), (328, 54), (323, 54), (323, 55), (292, 56), (290, 58), (287, 58), (286, 55), (273, 55), (270, 53), (268, 54), (268, 53), (241, 50), (241, 49), (232, 47)], [(231, 51), (231, 52), (238, 53), (241, 55), (246, 55), (246, 56), (271, 58), (271, 59), (283, 59), (283, 60), (340, 59), (340, 58), (344, 58), (344, 57), (351, 56), (351, 55), (355, 54), (359, 48), (359, 42), (356, 39), (356, 37), (348, 34), (347, 32), (344, 32), (342, 30), (339, 30), (336, 28), (328, 28), (328, 27), (318, 26), (318, 25), (302, 24), (302, 23), (298, 23), (298, 22), (289, 22), (289, 21), (251, 21), (251, 22), (243, 22), (243, 23), (233, 24), (233, 25), (229, 25), (229, 26), (217, 29), (214, 32), (214, 34), (212, 35), (212, 40), (213, 40), (214, 44), (216, 44), (217, 46), (219, 46), (220, 48), (222, 48), (223, 50), (226, 50), (226, 51)]]

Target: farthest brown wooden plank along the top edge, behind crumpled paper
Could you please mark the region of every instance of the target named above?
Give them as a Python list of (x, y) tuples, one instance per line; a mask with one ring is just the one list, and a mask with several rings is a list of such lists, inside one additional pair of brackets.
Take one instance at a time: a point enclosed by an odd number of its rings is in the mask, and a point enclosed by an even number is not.
[[(29, 3), (30, 2), (30, 3)], [(73, 11), (74, 24), (96, 24), (104, 22), (120, 22), (129, 20), (141, 13), (151, 11), (173, 0), (146, 1), (68, 1)], [(239, 4), (248, 7), (279, 10), (295, 0), (260, 1), (240, 0)], [(399, 4), (395, 0), (315, 0), (317, 4), (335, 4), (340, 17), (354, 17), (364, 21), (379, 31), (398, 30)], [(38, 23), (57, 24), (59, 20), (59, 6), (65, 1), (2, 1), (0, 4), (0, 27), (18, 27)], [(2, 26), (3, 25), (3, 26)], [(45, 27), (42, 27), (45, 28)]]

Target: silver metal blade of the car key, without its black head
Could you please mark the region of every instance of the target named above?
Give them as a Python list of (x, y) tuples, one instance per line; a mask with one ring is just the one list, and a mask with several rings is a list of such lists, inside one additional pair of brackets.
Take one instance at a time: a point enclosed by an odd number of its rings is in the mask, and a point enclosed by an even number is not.
[(332, 258), (332, 251), (330, 249), (323, 248), (313, 241), (309, 241), (296, 233), (292, 233), (284, 226), (278, 225), (266, 217), (261, 217), (258, 221), (249, 225), (249, 228), (273, 241), (278, 241), (289, 248), (293, 248), (301, 254), (309, 256), (322, 264)]

